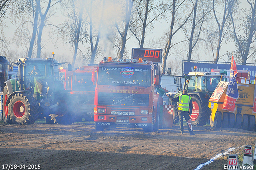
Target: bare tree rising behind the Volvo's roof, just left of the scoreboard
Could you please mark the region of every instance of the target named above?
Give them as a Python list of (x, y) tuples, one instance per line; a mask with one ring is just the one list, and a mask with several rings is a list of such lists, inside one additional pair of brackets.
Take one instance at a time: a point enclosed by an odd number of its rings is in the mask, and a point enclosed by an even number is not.
[(125, 45), (127, 41), (127, 33), (130, 24), (131, 11), (134, 0), (126, 0), (124, 9), (124, 20), (120, 24), (116, 23), (116, 29), (120, 38), (116, 38), (114, 46), (118, 49), (118, 58), (123, 58), (125, 53)]

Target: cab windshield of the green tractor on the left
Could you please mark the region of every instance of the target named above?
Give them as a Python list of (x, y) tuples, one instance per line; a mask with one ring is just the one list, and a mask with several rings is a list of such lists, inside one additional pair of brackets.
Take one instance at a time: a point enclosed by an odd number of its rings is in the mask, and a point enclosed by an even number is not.
[(51, 62), (28, 62), (25, 67), (26, 76), (47, 76), (53, 78), (53, 67)]

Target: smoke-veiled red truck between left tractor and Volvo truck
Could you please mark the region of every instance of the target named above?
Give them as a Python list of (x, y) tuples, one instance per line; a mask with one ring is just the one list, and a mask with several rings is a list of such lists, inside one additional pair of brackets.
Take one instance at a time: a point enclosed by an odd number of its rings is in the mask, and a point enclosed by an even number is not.
[[(94, 120), (94, 91), (96, 85), (92, 83), (92, 72), (95, 66), (83, 66), (72, 72), (60, 68), (60, 74), (64, 78), (66, 90), (71, 90), (71, 94), (79, 100), (78, 121)], [(95, 69), (96, 70), (96, 69)]]

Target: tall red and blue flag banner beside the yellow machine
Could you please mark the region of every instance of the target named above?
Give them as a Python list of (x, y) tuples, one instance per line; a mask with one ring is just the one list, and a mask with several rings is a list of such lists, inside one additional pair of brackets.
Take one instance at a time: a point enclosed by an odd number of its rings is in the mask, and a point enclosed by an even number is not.
[(229, 112), (235, 112), (235, 104), (236, 100), (239, 97), (238, 94), (238, 86), (236, 83), (236, 62), (232, 56), (232, 61), (231, 61), (231, 67), (230, 67), (230, 79), (228, 82), (228, 90), (226, 92), (226, 96), (223, 102), (223, 110), (228, 110)]

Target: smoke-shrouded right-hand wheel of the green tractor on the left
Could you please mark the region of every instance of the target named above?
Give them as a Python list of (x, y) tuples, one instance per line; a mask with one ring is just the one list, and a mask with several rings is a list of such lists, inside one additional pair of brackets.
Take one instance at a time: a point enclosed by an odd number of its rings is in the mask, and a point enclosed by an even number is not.
[[(64, 96), (65, 95), (65, 96)], [(58, 99), (59, 108), (55, 113), (55, 123), (58, 124), (72, 124), (76, 122), (76, 114), (78, 108), (78, 101), (70, 93), (60, 95)]]

